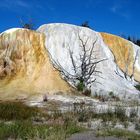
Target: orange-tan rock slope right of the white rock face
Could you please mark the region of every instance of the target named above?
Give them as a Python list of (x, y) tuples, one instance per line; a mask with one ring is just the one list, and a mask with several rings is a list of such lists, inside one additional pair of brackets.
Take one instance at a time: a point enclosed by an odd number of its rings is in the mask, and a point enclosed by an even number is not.
[[(114, 61), (127, 75), (140, 82), (140, 48), (132, 42), (107, 33), (101, 33), (104, 42), (114, 55)], [(137, 56), (136, 56), (137, 54)], [(137, 61), (135, 62), (135, 57)], [(134, 69), (134, 70), (133, 70)]]

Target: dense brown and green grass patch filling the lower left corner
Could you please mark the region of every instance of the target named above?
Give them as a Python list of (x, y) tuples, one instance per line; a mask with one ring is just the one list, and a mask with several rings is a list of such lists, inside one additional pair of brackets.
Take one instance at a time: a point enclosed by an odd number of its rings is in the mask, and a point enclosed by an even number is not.
[(37, 107), (28, 107), (21, 102), (2, 102), (0, 140), (65, 140), (70, 135), (84, 130), (74, 121), (62, 121), (60, 117), (62, 116), (59, 113), (50, 116)]

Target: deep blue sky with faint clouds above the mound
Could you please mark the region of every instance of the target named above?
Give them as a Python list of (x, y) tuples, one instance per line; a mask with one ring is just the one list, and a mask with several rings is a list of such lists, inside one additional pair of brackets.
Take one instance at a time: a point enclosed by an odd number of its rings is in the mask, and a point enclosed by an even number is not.
[(0, 32), (32, 19), (81, 25), (96, 31), (140, 37), (140, 0), (0, 0)]

